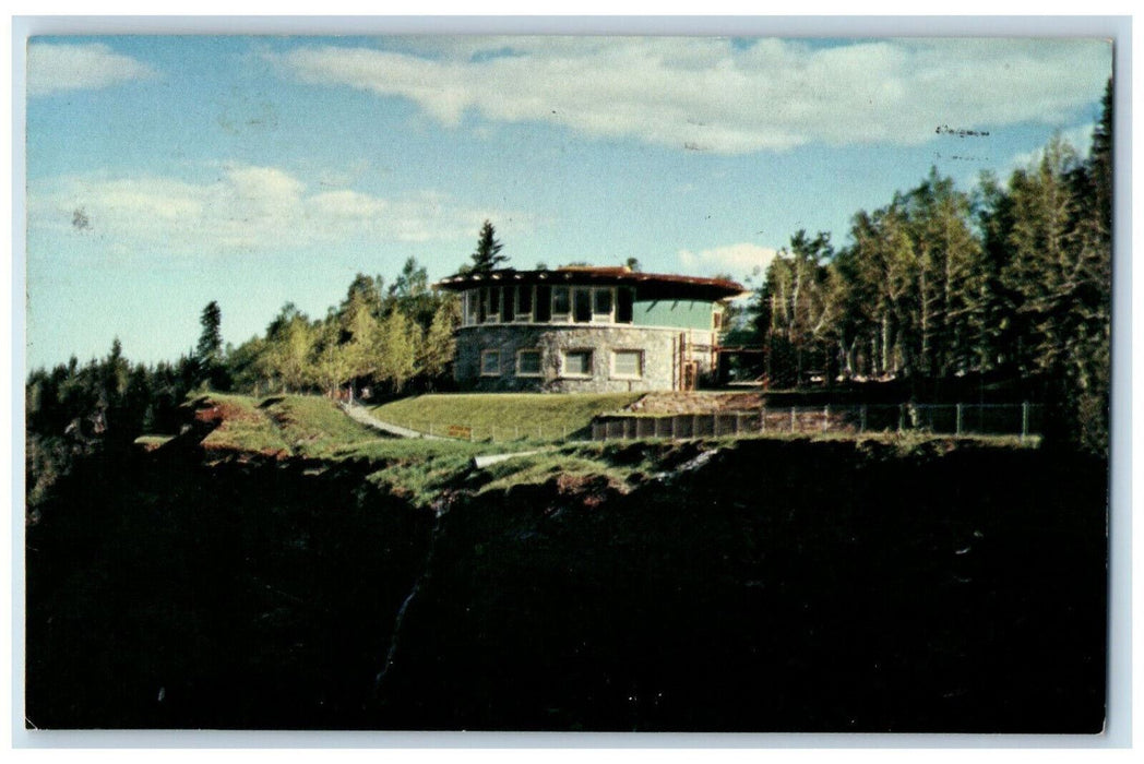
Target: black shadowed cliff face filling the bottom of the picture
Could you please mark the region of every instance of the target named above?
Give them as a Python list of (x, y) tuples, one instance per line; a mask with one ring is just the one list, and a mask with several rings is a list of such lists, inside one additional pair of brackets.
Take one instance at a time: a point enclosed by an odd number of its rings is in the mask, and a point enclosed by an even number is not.
[(1105, 464), (871, 448), (742, 443), (627, 495), (554, 477), (436, 512), (353, 465), (86, 462), (29, 530), (27, 716), (1099, 731)]

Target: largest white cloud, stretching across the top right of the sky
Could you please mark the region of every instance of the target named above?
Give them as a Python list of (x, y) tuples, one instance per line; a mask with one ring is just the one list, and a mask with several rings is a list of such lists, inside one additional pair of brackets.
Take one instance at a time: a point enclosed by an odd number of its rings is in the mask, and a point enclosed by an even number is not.
[(1111, 46), (1098, 40), (406, 42), (415, 53), (323, 46), (267, 57), (305, 82), (411, 98), (447, 126), (471, 112), (720, 153), (921, 144), (938, 125), (1059, 124), (1097, 100), (1111, 73)]

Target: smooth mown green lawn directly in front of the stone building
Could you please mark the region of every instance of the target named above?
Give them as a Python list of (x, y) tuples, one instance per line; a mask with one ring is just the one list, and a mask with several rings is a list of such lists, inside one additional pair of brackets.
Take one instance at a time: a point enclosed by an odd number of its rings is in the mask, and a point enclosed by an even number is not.
[(639, 392), (546, 395), (527, 392), (453, 393), (402, 398), (371, 412), (411, 430), (448, 435), (471, 429), (474, 440), (563, 440), (586, 436), (597, 414), (619, 411)]

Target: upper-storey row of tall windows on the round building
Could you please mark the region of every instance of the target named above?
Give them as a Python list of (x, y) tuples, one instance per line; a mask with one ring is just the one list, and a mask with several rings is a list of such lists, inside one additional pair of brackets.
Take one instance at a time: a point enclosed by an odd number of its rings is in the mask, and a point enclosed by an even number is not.
[(630, 324), (635, 291), (550, 284), (488, 286), (463, 293), (464, 325)]

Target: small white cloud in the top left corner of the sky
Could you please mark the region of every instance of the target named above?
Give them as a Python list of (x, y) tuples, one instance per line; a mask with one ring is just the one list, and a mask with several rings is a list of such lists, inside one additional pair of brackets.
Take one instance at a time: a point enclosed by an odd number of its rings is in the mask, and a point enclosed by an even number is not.
[(31, 42), (27, 46), (27, 95), (62, 90), (90, 90), (120, 82), (156, 77), (146, 64), (114, 53), (98, 42), (61, 45)]

